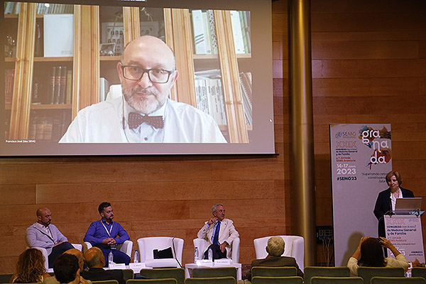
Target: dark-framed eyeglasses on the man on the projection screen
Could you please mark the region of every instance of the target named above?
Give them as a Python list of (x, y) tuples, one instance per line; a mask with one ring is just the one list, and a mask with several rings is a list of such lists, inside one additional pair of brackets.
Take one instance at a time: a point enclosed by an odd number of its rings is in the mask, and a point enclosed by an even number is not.
[(127, 80), (138, 81), (141, 80), (145, 73), (148, 73), (148, 78), (153, 83), (165, 84), (168, 82), (170, 75), (172, 75), (175, 70), (163, 70), (163, 69), (143, 69), (138, 66), (132, 65), (121, 65), (121, 70), (123, 71), (123, 77)]

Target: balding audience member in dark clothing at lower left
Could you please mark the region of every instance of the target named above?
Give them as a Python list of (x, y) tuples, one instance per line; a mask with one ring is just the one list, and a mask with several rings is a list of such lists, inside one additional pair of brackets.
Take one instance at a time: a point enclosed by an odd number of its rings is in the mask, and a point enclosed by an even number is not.
[(125, 284), (123, 271), (119, 269), (111, 269), (109, 271), (104, 270), (105, 258), (101, 249), (93, 246), (84, 253), (84, 259), (87, 267), (89, 268), (89, 271), (82, 271), (80, 274), (84, 279), (92, 281), (117, 280), (119, 281), (119, 284)]

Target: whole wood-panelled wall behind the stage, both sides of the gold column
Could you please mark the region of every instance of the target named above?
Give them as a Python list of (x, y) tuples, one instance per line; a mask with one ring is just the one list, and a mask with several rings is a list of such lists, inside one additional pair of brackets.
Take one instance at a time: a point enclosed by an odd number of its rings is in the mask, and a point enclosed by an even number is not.
[[(143, 236), (192, 239), (223, 202), (240, 233), (240, 262), (255, 257), (253, 239), (297, 234), (290, 160), (288, 1), (273, 1), (273, 111), (278, 156), (1, 158), (0, 273), (11, 273), (25, 229), (47, 206), (70, 241), (82, 241), (109, 200), (135, 242)], [(393, 168), (426, 197), (426, 2), (312, 0), (317, 225), (332, 225), (330, 123), (391, 123)], [(308, 208), (309, 209), (309, 208)], [(423, 225), (424, 234), (426, 225)], [(332, 248), (318, 246), (318, 263)], [(327, 258), (328, 252), (328, 258)]]

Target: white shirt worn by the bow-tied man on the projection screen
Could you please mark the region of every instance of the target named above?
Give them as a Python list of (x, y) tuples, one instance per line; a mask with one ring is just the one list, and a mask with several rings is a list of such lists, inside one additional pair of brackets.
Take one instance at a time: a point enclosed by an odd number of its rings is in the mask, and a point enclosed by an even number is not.
[(119, 97), (80, 110), (59, 143), (226, 143), (212, 116), (171, 99), (149, 114), (163, 115), (163, 129), (145, 123), (129, 129), (134, 109), (126, 102), (123, 116), (123, 101)]

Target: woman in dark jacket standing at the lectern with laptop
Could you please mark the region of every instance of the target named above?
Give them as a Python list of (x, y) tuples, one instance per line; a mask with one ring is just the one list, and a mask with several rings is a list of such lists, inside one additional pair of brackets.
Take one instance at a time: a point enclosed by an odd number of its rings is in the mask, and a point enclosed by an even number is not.
[(411, 190), (407, 190), (400, 185), (403, 183), (400, 174), (393, 170), (386, 175), (388, 189), (378, 194), (376, 206), (374, 206), (374, 215), (378, 219), (378, 236), (386, 237), (385, 221), (383, 215), (388, 211), (395, 210), (397, 198), (414, 197)]

